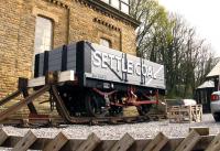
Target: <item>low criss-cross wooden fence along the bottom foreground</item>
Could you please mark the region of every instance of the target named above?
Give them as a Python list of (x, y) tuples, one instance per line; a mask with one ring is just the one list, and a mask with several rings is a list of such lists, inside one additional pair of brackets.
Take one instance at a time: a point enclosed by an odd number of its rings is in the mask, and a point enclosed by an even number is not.
[(0, 147), (12, 151), (219, 151), (220, 134), (202, 136), (191, 129), (186, 138), (167, 138), (160, 132), (154, 139), (135, 140), (125, 133), (119, 140), (101, 140), (91, 133), (85, 140), (68, 139), (63, 132), (55, 138), (37, 138), (31, 130), (24, 137), (8, 136), (0, 129)]

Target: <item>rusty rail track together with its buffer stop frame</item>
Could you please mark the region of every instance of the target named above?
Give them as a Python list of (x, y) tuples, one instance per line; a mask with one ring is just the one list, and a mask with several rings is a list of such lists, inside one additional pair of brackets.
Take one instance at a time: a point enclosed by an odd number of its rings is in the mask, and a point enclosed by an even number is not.
[[(103, 117), (96, 117), (96, 116), (87, 116), (87, 117), (76, 117), (70, 116), (68, 109), (66, 108), (64, 100), (61, 97), (61, 94), (57, 89), (58, 76), (54, 73), (48, 73), (45, 77), (45, 85), (37, 88), (31, 95), (29, 94), (28, 87), (28, 79), (20, 78), (18, 90), (8, 97), (0, 100), (0, 106), (6, 105), (10, 100), (18, 97), (20, 94), (23, 95), (23, 99), (19, 103), (12, 105), (8, 109), (0, 112), (0, 123), (2, 125), (14, 125), (14, 126), (22, 126), (22, 127), (47, 127), (47, 126), (62, 126), (62, 125), (79, 125), (79, 123), (87, 123), (87, 125), (103, 125), (103, 123), (134, 123), (134, 122), (142, 122), (142, 121), (151, 121), (151, 120), (158, 120), (161, 118), (165, 118), (165, 115), (156, 115), (156, 114), (145, 114), (140, 116), (132, 116), (132, 117), (124, 117), (124, 116), (103, 116)], [(44, 95), (46, 91), (50, 91), (50, 104), (51, 107), (56, 108), (58, 112), (58, 117), (50, 117), (48, 115), (38, 115), (33, 101), (38, 98), (40, 96)], [(30, 115), (26, 116), (28, 118), (10, 118), (11, 115), (15, 114), (22, 107), (26, 106), (30, 110)]]

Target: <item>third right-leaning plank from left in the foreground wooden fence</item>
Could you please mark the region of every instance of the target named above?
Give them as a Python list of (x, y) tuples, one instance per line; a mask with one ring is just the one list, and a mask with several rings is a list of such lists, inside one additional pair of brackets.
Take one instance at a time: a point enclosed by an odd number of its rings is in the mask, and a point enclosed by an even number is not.
[(44, 149), (43, 151), (59, 151), (68, 141), (63, 132), (59, 132)]

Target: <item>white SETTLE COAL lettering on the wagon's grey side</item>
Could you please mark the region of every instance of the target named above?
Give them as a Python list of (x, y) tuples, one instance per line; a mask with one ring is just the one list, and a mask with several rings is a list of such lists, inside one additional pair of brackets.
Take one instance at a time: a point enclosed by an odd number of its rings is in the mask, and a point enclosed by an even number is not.
[(102, 53), (99, 51), (92, 52), (92, 64), (96, 67), (101, 68), (111, 68), (116, 72), (123, 72), (131, 75), (141, 76), (141, 74), (145, 77), (151, 77), (156, 79), (156, 74), (154, 73), (154, 68), (152, 65), (147, 65), (145, 63), (133, 62), (131, 60), (127, 60), (125, 57)]

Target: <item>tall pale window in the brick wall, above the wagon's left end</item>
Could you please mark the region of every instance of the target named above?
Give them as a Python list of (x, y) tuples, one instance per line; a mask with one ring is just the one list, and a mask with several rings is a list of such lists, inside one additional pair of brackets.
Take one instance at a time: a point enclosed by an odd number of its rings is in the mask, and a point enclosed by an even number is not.
[(42, 17), (36, 17), (34, 54), (52, 50), (52, 20)]

